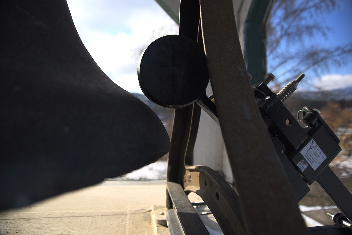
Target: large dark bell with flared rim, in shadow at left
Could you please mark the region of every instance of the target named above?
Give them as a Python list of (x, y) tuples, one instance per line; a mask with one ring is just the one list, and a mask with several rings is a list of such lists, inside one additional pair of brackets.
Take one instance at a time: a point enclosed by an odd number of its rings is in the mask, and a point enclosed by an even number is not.
[(169, 151), (157, 115), (89, 55), (65, 1), (1, 5), (0, 209), (120, 176)]

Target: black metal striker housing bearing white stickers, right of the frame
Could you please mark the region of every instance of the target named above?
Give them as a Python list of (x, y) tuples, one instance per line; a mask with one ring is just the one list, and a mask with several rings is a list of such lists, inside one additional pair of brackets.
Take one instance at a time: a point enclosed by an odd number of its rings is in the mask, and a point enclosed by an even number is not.
[(340, 140), (317, 111), (309, 110), (303, 121), (296, 121), (264, 82), (253, 92), (272, 138), (303, 179), (312, 184), (341, 151)]

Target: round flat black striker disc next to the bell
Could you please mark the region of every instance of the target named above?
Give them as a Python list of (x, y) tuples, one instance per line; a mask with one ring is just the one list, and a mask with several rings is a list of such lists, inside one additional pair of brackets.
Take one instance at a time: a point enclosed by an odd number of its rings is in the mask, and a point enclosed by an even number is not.
[(206, 56), (188, 37), (158, 38), (139, 58), (138, 80), (143, 93), (154, 103), (167, 108), (188, 106), (208, 85)]

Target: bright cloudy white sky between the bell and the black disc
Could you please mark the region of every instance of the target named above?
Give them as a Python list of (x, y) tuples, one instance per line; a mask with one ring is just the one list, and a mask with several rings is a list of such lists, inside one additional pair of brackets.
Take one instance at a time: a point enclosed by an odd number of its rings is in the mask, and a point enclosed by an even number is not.
[(155, 38), (177, 33), (177, 25), (154, 0), (68, 0), (78, 34), (107, 76), (141, 93), (138, 52)]

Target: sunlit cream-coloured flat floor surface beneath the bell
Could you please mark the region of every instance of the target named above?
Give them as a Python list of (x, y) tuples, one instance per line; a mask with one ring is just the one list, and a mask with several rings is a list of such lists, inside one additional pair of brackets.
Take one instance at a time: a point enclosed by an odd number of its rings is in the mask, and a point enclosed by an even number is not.
[(0, 234), (155, 234), (153, 208), (165, 207), (165, 202), (164, 180), (107, 180), (1, 211)]

